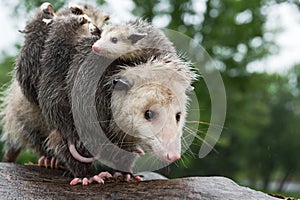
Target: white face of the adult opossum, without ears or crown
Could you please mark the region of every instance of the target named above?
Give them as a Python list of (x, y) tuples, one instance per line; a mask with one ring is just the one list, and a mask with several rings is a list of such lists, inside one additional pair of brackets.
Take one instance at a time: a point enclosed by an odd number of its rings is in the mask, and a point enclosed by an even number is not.
[(127, 92), (116, 91), (112, 99), (116, 124), (140, 138), (138, 145), (168, 162), (180, 158), (185, 102), (170, 89), (154, 83)]

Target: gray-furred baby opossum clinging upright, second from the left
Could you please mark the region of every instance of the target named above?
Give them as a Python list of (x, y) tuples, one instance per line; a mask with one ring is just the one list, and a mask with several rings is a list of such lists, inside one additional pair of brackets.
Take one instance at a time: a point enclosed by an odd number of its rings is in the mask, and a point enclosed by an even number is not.
[[(84, 7), (85, 8), (85, 7)], [(85, 12), (92, 7), (86, 7)], [(89, 29), (90, 18), (84, 15), (66, 15), (65, 9), (57, 14), (51, 22), (51, 29), (45, 41), (41, 63), (41, 76), (38, 88), (39, 105), (46, 118), (49, 128), (52, 130), (56, 123), (64, 123), (63, 117), (65, 109), (59, 100), (67, 101), (67, 97), (60, 96), (57, 91), (64, 90), (65, 77), (67, 75), (70, 61), (76, 53), (75, 46), (84, 36), (91, 36)], [(99, 14), (99, 13), (98, 13)], [(98, 15), (102, 19), (102, 24), (107, 20), (103, 15)], [(95, 16), (96, 17), (96, 16)], [(96, 21), (96, 20), (95, 20)], [(99, 21), (99, 20), (98, 20)], [(100, 22), (98, 22), (100, 23)], [(100, 37), (96, 35), (95, 37)], [(49, 98), (51, 96), (51, 98)], [(60, 116), (57, 118), (56, 116)], [(66, 124), (66, 123), (64, 123)], [(69, 129), (69, 127), (65, 127)], [(61, 131), (61, 130), (59, 130)]]

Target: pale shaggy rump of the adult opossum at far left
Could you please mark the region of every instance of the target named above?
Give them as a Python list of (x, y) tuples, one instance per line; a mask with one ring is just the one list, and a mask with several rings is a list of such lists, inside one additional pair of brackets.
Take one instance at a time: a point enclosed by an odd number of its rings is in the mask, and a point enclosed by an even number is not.
[(16, 80), (6, 90), (2, 106), (2, 140), (6, 141), (3, 161), (15, 162), (20, 150), (26, 147), (46, 157), (53, 156), (46, 145), (49, 130), (41, 110), (27, 100)]

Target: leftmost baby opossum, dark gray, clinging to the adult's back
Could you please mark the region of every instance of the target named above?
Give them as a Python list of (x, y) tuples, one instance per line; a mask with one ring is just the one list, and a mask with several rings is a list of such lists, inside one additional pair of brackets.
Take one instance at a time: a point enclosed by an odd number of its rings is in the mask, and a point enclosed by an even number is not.
[(16, 79), (27, 99), (37, 102), (37, 81), (40, 77), (40, 59), (49, 26), (43, 19), (52, 19), (54, 10), (50, 3), (43, 3), (25, 27), (25, 41), (16, 60)]

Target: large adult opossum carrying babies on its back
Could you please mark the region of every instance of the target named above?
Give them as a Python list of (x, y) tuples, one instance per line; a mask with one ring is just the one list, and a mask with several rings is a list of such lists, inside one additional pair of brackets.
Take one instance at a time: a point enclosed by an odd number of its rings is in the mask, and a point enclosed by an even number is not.
[[(88, 55), (83, 64), (78, 66), (77, 70), (73, 70), (75, 74), (71, 72), (69, 76), (79, 76), (80, 78), (79, 67), (87, 71), (87, 76), (91, 75), (89, 73), (93, 72), (94, 67), (103, 67), (99, 66), (105, 62), (102, 59), (95, 54)], [(107, 128), (102, 127), (106, 136), (113, 144), (124, 150), (140, 155), (146, 150), (168, 162), (178, 160), (180, 158), (180, 136), (186, 115), (187, 95), (185, 91), (189, 88), (192, 78), (192, 73), (184, 63), (170, 61), (168, 58), (156, 58), (131, 67), (123, 66), (113, 76), (106, 77), (104, 75), (97, 85), (96, 110), (99, 113), (99, 121), (108, 125)], [(80, 86), (81, 81), (84, 83), (86, 80), (79, 79), (75, 86)], [(81, 85), (80, 90), (87, 90), (85, 86)], [(6, 100), (8, 105), (4, 113), (4, 136), (6, 139), (16, 141), (9, 143), (7, 140), (11, 149), (15, 147), (19, 149), (23, 145), (29, 144), (37, 150), (41, 149), (39, 152), (42, 155), (50, 153), (49, 156), (58, 158), (77, 177), (71, 181), (72, 185), (80, 182), (88, 184), (92, 181), (103, 183), (105, 177), (110, 177), (105, 172), (93, 176), (92, 164), (75, 159), (68, 146), (71, 137), (71, 141), (80, 155), (92, 157), (93, 155), (87, 149), (95, 147), (97, 151), (105, 151), (106, 143), (99, 141), (98, 138), (89, 138), (93, 141), (81, 141), (75, 129), (70, 130), (67, 137), (58, 131), (50, 133), (46, 129), (40, 110), (38, 107), (33, 109), (32, 104), (26, 101), (16, 81), (12, 84), (9, 92), (11, 95)], [(106, 107), (104, 104), (110, 106)], [(26, 130), (19, 129), (26, 127), (24, 125), (28, 126)], [(36, 132), (34, 132), (35, 130)], [(40, 133), (42, 135), (39, 135)], [(41, 137), (40, 140), (37, 140), (38, 136)], [(31, 137), (33, 140), (28, 139)], [(128, 169), (125, 170), (127, 173), (131, 172), (135, 160), (134, 154), (130, 154), (131, 157), (121, 157), (122, 153), (119, 155), (118, 153), (102, 152), (102, 154), (112, 156), (112, 158), (117, 156), (117, 159), (112, 162), (116, 166), (127, 167)]]

